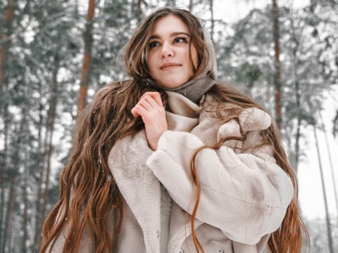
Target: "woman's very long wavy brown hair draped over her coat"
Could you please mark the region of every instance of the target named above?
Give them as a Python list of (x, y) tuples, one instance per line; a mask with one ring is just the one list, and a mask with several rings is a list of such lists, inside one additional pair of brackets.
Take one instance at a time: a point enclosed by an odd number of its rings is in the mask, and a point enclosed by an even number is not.
[[(177, 16), (191, 31), (189, 46), (194, 44), (199, 63), (192, 78), (206, 67), (210, 56), (204, 43), (201, 23), (192, 13), (176, 8), (162, 8), (142, 22), (127, 44), (125, 52), (125, 64), (132, 79), (115, 82), (101, 89), (77, 121), (73, 150), (68, 164), (61, 171), (60, 197), (44, 222), (40, 252), (51, 250), (57, 238), (63, 235), (65, 236), (63, 252), (79, 252), (84, 233), (89, 236), (95, 252), (113, 252), (114, 242), (123, 222), (123, 196), (109, 171), (108, 154), (118, 139), (144, 129), (142, 120), (139, 117), (135, 119), (131, 110), (144, 92), (156, 91), (147, 82), (151, 79), (151, 75), (146, 66), (146, 48), (156, 20), (166, 15)], [(192, 61), (191, 56), (190, 60)], [(158, 92), (161, 93), (165, 105), (168, 96), (164, 91)], [(224, 84), (215, 84), (210, 92), (218, 98), (219, 103), (215, 107), (215, 112), (220, 118), (224, 115), (222, 113), (225, 110), (224, 102), (237, 105), (235, 110), (229, 110), (230, 117), (224, 119), (225, 122), (238, 119), (240, 111), (244, 108), (261, 108), (250, 98)], [(274, 127), (270, 126), (262, 131), (262, 136), (265, 144), (273, 146), (277, 164), (290, 176), (294, 185), (294, 198), (282, 225), (271, 235), (268, 246), (274, 253), (298, 253), (301, 252), (302, 231), (307, 239), (308, 233), (299, 216), (296, 176), (287, 162)], [(243, 133), (239, 140), (244, 139)], [(202, 147), (196, 150), (194, 157), (203, 148), (218, 148), (219, 145), (220, 143), (215, 147)], [(194, 229), (201, 193), (194, 157), (191, 171), (196, 194), (192, 196), (195, 200), (191, 216), (192, 238), (196, 251), (204, 252)], [(108, 221), (113, 221), (113, 225)]]

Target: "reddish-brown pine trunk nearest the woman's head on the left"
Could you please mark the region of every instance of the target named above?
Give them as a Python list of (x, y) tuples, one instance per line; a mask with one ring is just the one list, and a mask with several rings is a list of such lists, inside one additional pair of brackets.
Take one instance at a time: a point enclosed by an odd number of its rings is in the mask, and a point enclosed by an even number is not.
[(81, 72), (81, 83), (79, 90), (79, 99), (77, 101), (77, 115), (79, 115), (87, 103), (87, 89), (89, 80), (90, 62), (92, 59), (92, 27), (95, 11), (95, 0), (89, 0), (86, 30), (84, 32), (84, 58)]

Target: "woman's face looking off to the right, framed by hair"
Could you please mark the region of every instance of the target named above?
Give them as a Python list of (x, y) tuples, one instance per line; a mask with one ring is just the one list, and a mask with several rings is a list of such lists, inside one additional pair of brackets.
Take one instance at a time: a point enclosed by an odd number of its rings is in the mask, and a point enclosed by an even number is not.
[[(175, 15), (157, 20), (148, 41), (146, 63), (151, 77), (165, 88), (176, 88), (193, 75), (189, 60), (190, 31), (187, 25)], [(191, 54), (197, 67), (197, 52), (192, 44)]]

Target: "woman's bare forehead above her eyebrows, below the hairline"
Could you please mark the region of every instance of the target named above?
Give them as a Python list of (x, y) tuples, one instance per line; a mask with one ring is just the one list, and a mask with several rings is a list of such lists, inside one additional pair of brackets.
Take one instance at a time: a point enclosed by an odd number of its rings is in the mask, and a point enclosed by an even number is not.
[(151, 35), (170, 34), (173, 32), (186, 32), (190, 33), (189, 27), (175, 15), (167, 15), (163, 18), (156, 20), (151, 29)]

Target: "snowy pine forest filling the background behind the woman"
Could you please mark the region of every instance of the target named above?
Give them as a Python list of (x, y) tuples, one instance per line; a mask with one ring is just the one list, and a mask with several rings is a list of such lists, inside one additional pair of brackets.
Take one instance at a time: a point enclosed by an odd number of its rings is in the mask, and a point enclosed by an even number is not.
[[(331, 159), (337, 150), (318, 148), (320, 133), (338, 143), (338, 1), (308, 0), (301, 8), (286, 4), (292, 1), (264, 2), (229, 22), (215, 15), (229, 8), (226, 1), (0, 0), (0, 252), (39, 251), (77, 114), (102, 86), (128, 78), (121, 50), (139, 22), (161, 6), (204, 19), (218, 79), (273, 115), (296, 174), (308, 159), (308, 133), (315, 138), (319, 163), (312, 165), (321, 175), (316, 190), (325, 216), (303, 219), (311, 252), (338, 252), (338, 166), (321, 166), (319, 152)], [(327, 96), (336, 102), (330, 127), (322, 117)], [(333, 179), (333, 198), (323, 173)]]

